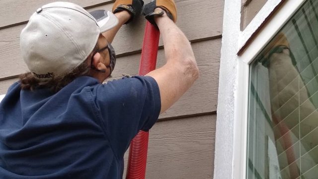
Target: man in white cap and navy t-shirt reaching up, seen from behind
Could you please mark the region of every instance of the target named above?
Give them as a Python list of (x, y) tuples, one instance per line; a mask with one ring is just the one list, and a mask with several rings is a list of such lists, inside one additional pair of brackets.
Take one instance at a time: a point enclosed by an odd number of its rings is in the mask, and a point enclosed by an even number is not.
[(20, 38), (30, 72), (0, 103), (1, 178), (122, 178), (131, 139), (198, 78), (190, 43), (174, 24), (173, 0), (155, 0), (143, 13), (161, 32), (166, 64), (102, 84), (115, 66), (115, 34), (143, 4), (116, 0), (114, 15), (53, 2), (30, 17)]

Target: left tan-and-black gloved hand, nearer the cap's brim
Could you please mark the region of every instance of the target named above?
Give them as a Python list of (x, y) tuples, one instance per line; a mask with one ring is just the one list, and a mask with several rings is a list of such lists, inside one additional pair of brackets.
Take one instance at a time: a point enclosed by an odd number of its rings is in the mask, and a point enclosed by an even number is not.
[(131, 14), (130, 19), (125, 23), (128, 24), (129, 22), (134, 20), (136, 15), (140, 14), (143, 5), (143, 0), (116, 0), (113, 5), (113, 13), (123, 10), (128, 11)]

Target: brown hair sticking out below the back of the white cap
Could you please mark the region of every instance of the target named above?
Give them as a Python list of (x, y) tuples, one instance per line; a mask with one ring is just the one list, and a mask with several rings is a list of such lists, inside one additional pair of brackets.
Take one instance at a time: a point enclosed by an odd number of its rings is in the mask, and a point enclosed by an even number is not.
[(64, 77), (53, 77), (47, 81), (41, 81), (35, 78), (31, 72), (20, 75), (20, 87), (24, 90), (34, 90), (39, 88), (48, 88), (52, 92), (58, 92), (63, 87), (71, 83), (78, 77), (89, 76), (90, 68), (88, 67), (86, 60), (75, 68), (71, 73)]

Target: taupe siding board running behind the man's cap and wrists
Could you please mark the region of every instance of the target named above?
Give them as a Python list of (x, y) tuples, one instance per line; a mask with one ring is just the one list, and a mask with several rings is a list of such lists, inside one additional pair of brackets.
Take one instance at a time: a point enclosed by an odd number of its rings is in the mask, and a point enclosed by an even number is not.
[[(210, 0), (186, 0), (177, 2), (178, 26), (190, 41), (200, 41), (219, 37), (222, 29), (221, 4)], [(211, 5), (207, 5), (211, 4)], [(111, 9), (112, 4), (94, 7)], [(196, 9), (192, 9), (196, 7)], [(213, 12), (217, 12), (213, 14)], [(206, 13), (202, 13), (206, 12)], [(117, 55), (129, 55), (140, 51), (143, 43), (145, 19), (140, 16), (136, 24), (124, 25), (117, 34), (113, 46)], [(19, 36), (26, 24), (0, 29), (0, 79), (25, 73), (28, 69), (24, 64), (19, 48)], [(162, 45), (162, 42), (160, 42)], [(9, 62), (8, 62), (9, 60)]]

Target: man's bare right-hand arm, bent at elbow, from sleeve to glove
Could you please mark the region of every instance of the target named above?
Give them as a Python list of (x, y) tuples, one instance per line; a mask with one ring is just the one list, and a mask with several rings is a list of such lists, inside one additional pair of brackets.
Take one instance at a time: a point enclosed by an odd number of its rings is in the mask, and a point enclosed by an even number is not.
[(190, 42), (166, 13), (155, 17), (155, 21), (163, 38), (166, 64), (147, 76), (153, 77), (159, 85), (162, 113), (191, 87), (199, 70)]

